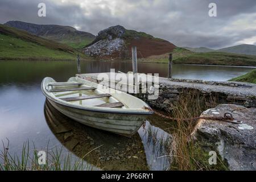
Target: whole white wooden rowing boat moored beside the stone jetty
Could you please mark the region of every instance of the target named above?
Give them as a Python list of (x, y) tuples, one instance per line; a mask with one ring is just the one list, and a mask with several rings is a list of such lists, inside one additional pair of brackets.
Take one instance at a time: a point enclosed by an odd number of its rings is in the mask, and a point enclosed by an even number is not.
[(152, 114), (143, 109), (149, 106), (139, 98), (78, 77), (67, 82), (46, 77), (41, 89), (51, 105), (67, 117), (126, 137), (135, 134)]

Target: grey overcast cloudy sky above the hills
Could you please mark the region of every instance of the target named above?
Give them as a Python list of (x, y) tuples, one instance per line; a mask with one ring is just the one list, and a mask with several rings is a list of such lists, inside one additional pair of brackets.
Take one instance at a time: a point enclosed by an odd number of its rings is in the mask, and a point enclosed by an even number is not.
[[(38, 4), (46, 4), (46, 17)], [(217, 17), (208, 14), (216, 3)], [(97, 35), (120, 24), (176, 46), (221, 48), (256, 44), (255, 0), (0, 0), (0, 23), (61, 24)]]

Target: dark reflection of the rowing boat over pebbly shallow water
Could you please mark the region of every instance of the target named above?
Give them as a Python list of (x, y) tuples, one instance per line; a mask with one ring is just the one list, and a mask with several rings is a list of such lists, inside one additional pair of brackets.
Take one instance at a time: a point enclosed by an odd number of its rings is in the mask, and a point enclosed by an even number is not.
[(44, 115), (61, 144), (87, 163), (106, 170), (148, 170), (138, 133), (126, 138), (81, 125), (61, 114), (48, 101), (44, 106)]

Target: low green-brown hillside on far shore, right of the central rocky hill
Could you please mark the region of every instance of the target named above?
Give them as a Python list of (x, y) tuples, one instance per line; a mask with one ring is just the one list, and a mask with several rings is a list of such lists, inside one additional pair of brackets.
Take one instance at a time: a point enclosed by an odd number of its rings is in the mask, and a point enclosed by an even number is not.
[[(256, 66), (256, 56), (225, 52), (192, 52), (184, 48), (174, 49), (173, 60), (176, 64)], [(168, 63), (168, 53), (159, 56), (150, 56), (140, 61)]]

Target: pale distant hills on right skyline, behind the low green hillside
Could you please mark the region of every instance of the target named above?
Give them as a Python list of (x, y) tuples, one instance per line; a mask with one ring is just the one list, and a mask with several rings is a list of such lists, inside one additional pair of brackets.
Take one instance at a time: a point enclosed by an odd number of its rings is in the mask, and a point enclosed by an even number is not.
[(238, 53), (242, 55), (254, 55), (256, 56), (256, 46), (250, 44), (241, 44), (238, 46), (226, 47), (221, 49), (210, 49), (207, 47), (183, 47), (193, 52), (228, 52)]

